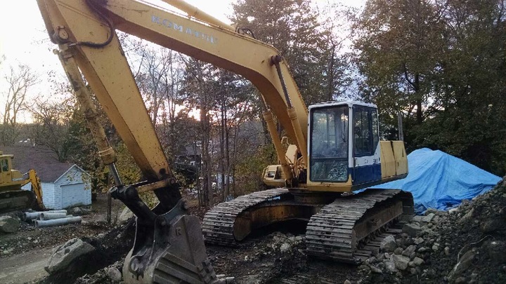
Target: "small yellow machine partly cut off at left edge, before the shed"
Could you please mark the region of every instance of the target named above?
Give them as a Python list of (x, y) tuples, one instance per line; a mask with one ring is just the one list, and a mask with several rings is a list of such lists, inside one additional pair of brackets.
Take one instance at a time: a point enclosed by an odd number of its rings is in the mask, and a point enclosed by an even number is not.
[[(44, 210), (42, 201), (42, 187), (35, 170), (30, 170), (23, 178), (19, 170), (13, 170), (13, 155), (0, 151), (0, 213), (22, 209)], [(31, 183), (32, 190), (22, 190), (21, 187)]]

